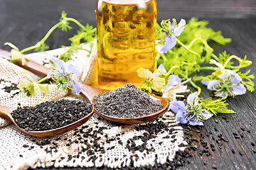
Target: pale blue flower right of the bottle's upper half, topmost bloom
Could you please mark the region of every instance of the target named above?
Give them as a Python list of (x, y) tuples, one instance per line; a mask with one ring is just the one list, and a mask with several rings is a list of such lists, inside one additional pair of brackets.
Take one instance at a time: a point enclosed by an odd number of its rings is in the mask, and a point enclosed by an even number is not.
[(181, 21), (177, 24), (176, 21), (169, 23), (169, 33), (166, 34), (166, 40), (164, 45), (156, 45), (156, 50), (160, 53), (166, 54), (168, 50), (171, 50), (176, 45), (176, 37), (181, 35), (183, 30), (185, 29), (186, 21), (181, 19)]

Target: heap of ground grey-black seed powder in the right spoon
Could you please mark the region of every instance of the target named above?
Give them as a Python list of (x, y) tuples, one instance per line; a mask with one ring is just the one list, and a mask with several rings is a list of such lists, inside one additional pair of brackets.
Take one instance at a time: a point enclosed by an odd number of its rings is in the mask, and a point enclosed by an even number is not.
[(163, 107), (133, 84), (95, 96), (93, 106), (96, 111), (117, 118), (137, 118), (155, 113)]

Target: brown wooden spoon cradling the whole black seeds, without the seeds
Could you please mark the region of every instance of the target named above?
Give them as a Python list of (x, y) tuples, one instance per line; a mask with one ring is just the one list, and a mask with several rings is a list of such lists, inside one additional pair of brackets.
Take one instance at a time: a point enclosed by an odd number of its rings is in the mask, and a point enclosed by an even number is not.
[(84, 124), (85, 122), (87, 122), (87, 120), (89, 120), (93, 113), (94, 113), (94, 107), (92, 107), (92, 111), (90, 113), (88, 113), (87, 115), (85, 115), (83, 118), (80, 118), (80, 120), (77, 120), (73, 123), (70, 123), (69, 125), (65, 125), (63, 127), (60, 128), (55, 128), (53, 130), (43, 130), (43, 131), (30, 131), (30, 130), (24, 130), (23, 128), (20, 128), (17, 123), (15, 122), (14, 118), (11, 115), (11, 112), (16, 110), (16, 108), (9, 108), (6, 106), (0, 106), (0, 116), (11, 120), (12, 123), (14, 123), (14, 125), (16, 125), (16, 127), (21, 130), (22, 132), (25, 132), (28, 135), (31, 136), (35, 136), (35, 137), (51, 137), (51, 136), (55, 136), (55, 135), (60, 135), (63, 134), (65, 132), (68, 132), (70, 130), (73, 130), (75, 128), (78, 128), (78, 126)]

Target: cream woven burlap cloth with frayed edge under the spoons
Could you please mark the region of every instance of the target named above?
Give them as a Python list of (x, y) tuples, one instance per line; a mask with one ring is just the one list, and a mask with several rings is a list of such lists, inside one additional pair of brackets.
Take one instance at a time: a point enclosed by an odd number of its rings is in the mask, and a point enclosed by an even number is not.
[[(27, 57), (40, 64), (50, 63), (62, 51), (51, 50)], [(89, 58), (85, 55), (78, 52), (72, 61), (82, 72), (76, 79), (94, 84), (97, 81), (95, 52)], [(23, 96), (18, 93), (19, 89), (6, 91), (6, 86), (16, 86), (21, 79), (27, 79), (22, 72), (27, 72), (35, 80), (41, 78), (0, 58), (0, 105), (16, 108), (18, 103), (35, 106), (60, 98), (80, 100), (79, 96), (70, 95), (68, 91), (58, 91), (55, 85), (49, 85), (48, 95), (36, 92), (32, 96)], [(174, 159), (176, 151), (186, 145), (182, 128), (171, 112), (142, 125), (116, 125), (94, 114), (79, 128), (48, 138), (26, 135), (10, 124), (9, 120), (0, 118), (0, 169), (103, 165), (122, 168), (164, 164), (167, 159)]]

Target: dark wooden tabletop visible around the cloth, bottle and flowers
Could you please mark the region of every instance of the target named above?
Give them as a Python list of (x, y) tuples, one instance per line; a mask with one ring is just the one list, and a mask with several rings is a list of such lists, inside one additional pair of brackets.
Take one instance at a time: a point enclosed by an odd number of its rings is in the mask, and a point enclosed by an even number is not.
[[(256, 1), (170, 1), (157, 0), (158, 21), (167, 18), (189, 19), (192, 16), (210, 21), (209, 27), (221, 30), (232, 38), (229, 45), (216, 45), (215, 54), (226, 50), (252, 60), (251, 73), (256, 75)], [(4, 42), (12, 42), (18, 48), (35, 45), (51, 26), (58, 22), (61, 11), (77, 18), (81, 23), (95, 26), (95, 0), (0, 0), (0, 48), (10, 50)], [(56, 31), (47, 40), (50, 49), (68, 45), (68, 33)], [(213, 94), (203, 88), (202, 97)], [(192, 89), (193, 90), (193, 89)], [(191, 145), (198, 146), (193, 157), (178, 169), (256, 169), (256, 97), (255, 92), (228, 98), (229, 108), (234, 115), (218, 115), (208, 120), (201, 128), (192, 128)], [(192, 140), (191, 140), (192, 139)], [(195, 140), (193, 140), (195, 139)], [(204, 142), (212, 144), (215, 151), (203, 153)], [(210, 145), (208, 146), (210, 147)]]

